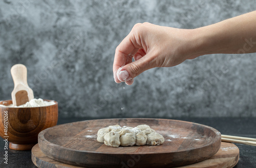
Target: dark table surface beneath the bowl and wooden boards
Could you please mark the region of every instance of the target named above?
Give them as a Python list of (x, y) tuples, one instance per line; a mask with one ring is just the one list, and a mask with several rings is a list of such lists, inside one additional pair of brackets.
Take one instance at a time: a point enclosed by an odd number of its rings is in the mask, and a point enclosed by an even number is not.
[[(77, 122), (87, 120), (89, 118), (59, 118), (59, 124)], [(189, 121), (199, 124), (204, 124), (213, 128), (216, 128), (222, 134), (226, 135), (236, 135), (244, 137), (256, 138), (256, 117), (248, 118), (170, 118), (170, 119), (179, 119), (182, 121)], [(31, 160), (31, 151), (14, 151), (8, 150), (8, 164), (4, 163), (4, 140), (0, 138), (0, 167), (13, 167), (13, 168), (29, 168), (36, 166)], [(246, 146), (239, 143), (235, 143), (240, 150), (240, 159), (236, 168), (250, 168), (256, 167), (256, 147)]]

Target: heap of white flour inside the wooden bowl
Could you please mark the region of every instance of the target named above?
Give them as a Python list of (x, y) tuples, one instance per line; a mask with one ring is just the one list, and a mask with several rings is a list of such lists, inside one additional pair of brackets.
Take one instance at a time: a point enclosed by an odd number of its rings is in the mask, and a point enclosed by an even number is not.
[(13, 104), (10, 104), (9, 106), (0, 105), (0, 107), (42, 107), (42, 106), (50, 106), (54, 105), (55, 102), (47, 102), (42, 99), (32, 99), (31, 101), (27, 102), (26, 104), (20, 105), (20, 106), (13, 106)]

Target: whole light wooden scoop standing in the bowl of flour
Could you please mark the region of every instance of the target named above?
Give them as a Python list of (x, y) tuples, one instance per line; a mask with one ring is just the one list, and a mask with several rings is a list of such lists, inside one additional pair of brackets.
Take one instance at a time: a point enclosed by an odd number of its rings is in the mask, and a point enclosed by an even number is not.
[(14, 106), (20, 106), (34, 99), (33, 90), (29, 87), (27, 82), (26, 66), (23, 64), (13, 65), (11, 75), (14, 82), (12, 104)]

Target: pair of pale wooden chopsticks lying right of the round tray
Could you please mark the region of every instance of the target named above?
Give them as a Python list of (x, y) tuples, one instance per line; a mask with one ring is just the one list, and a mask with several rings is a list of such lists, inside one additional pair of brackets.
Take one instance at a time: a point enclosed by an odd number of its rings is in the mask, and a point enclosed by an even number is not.
[(255, 138), (247, 138), (247, 137), (231, 136), (231, 135), (221, 135), (221, 141), (242, 143), (244, 145), (256, 146)]

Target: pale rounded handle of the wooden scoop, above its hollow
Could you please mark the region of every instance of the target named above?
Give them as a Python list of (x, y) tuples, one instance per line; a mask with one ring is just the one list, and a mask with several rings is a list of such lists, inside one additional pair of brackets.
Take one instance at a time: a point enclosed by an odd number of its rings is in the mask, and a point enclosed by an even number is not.
[(11, 68), (11, 75), (14, 82), (14, 87), (18, 84), (28, 86), (27, 82), (27, 67), (23, 64), (13, 65)]

